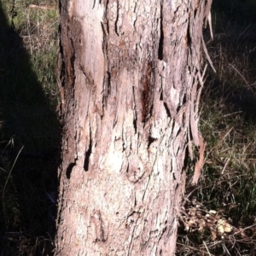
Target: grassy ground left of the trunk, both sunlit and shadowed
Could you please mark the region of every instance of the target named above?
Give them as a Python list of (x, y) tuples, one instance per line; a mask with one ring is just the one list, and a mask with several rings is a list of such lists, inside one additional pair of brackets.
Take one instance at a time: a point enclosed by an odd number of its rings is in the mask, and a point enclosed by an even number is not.
[(55, 234), (59, 16), (30, 4), (0, 3), (1, 255), (49, 255)]

